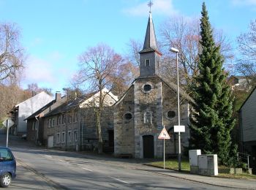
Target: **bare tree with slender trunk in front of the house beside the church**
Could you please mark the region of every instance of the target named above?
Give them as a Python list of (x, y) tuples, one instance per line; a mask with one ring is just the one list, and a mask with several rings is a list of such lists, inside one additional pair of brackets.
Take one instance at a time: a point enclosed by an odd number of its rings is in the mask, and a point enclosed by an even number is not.
[(77, 83), (86, 83), (86, 87), (91, 91), (99, 91), (97, 104), (94, 106), (96, 115), (96, 127), (98, 134), (98, 151), (102, 153), (102, 129), (101, 115), (104, 109), (104, 100), (106, 93), (102, 90), (108, 88), (112, 90), (114, 86), (113, 76), (116, 74), (118, 65), (122, 58), (114, 52), (108, 45), (99, 44), (95, 47), (90, 47), (86, 52), (79, 57), (80, 71), (76, 77)]

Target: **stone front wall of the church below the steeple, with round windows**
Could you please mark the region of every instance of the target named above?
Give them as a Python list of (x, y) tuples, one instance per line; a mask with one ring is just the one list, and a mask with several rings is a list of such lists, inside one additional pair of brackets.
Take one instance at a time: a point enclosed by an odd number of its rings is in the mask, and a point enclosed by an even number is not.
[[(149, 87), (150, 86), (150, 87)], [(188, 146), (189, 106), (185, 101), (180, 106), (181, 125), (186, 126), (181, 133), (181, 145)], [(154, 158), (163, 156), (163, 140), (158, 136), (164, 125), (170, 134), (165, 140), (165, 153), (178, 153), (178, 137), (173, 126), (178, 125), (177, 94), (160, 77), (135, 80), (124, 97), (116, 104), (114, 112), (115, 154), (132, 154), (135, 158), (146, 157), (145, 137), (150, 137), (154, 145)], [(130, 113), (132, 118), (126, 118)], [(178, 135), (177, 135), (178, 136)]]

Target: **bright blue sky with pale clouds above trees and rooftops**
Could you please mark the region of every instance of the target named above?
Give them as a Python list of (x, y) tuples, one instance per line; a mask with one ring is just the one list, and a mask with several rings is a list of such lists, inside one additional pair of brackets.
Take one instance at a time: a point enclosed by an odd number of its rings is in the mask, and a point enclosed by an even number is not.
[[(203, 0), (154, 0), (154, 26), (173, 15), (200, 17)], [(29, 83), (61, 91), (78, 70), (78, 56), (101, 42), (117, 53), (129, 39), (143, 41), (148, 0), (0, 0), (0, 22), (17, 23), (26, 50), (21, 85)], [(236, 45), (256, 15), (256, 0), (206, 0), (214, 28)]]

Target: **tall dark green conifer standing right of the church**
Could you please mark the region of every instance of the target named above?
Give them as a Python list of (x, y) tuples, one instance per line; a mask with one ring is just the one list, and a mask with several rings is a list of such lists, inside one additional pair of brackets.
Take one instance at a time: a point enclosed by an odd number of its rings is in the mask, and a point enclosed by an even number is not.
[[(191, 117), (191, 146), (200, 148), (203, 153), (217, 153), (221, 164), (230, 164), (230, 132), (235, 121), (233, 96), (226, 83), (222, 64), (223, 56), (215, 45), (213, 31), (208, 20), (206, 4), (203, 3), (200, 19), (200, 44), (202, 52), (198, 63), (200, 74), (195, 77), (193, 86), (194, 110)], [(231, 150), (233, 149), (233, 150)], [(232, 156), (231, 156), (232, 157)]]

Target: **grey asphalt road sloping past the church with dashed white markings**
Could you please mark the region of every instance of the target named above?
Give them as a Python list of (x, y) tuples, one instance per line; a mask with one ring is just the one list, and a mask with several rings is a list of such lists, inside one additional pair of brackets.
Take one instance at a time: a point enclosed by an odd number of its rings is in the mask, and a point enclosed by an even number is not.
[[(0, 134), (0, 145), (5, 145), (4, 137)], [(160, 175), (154, 171), (161, 169), (135, 159), (53, 151), (17, 137), (10, 137), (10, 148), (18, 161), (10, 189), (219, 189)]]

